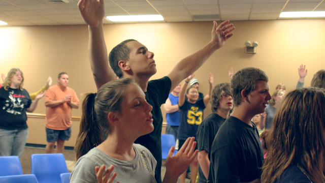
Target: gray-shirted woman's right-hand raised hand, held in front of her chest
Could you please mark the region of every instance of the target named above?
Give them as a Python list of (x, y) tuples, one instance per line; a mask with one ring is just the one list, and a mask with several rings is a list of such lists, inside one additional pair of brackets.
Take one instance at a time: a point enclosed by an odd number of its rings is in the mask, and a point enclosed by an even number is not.
[(173, 157), (175, 147), (172, 146), (166, 160), (166, 174), (163, 182), (177, 182), (180, 174), (182, 174), (198, 155), (195, 150), (197, 142), (194, 137), (188, 137), (177, 154)]

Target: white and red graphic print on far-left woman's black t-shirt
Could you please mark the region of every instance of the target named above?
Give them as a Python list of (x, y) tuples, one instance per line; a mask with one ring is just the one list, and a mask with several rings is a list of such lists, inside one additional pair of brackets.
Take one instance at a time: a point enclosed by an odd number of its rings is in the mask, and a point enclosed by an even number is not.
[(22, 103), (22, 98), (26, 96), (21, 94), (14, 94), (14, 91), (9, 92), (9, 100), (6, 100), (3, 110), (14, 115), (20, 115), (24, 109), (24, 104)]

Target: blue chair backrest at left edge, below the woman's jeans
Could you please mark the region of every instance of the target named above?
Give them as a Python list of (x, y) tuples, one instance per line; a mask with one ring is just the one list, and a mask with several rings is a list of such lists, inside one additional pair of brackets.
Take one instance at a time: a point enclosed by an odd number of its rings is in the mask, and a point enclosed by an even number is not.
[(0, 157), (0, 176), (22, 175), (21, 164), (17, 156)]

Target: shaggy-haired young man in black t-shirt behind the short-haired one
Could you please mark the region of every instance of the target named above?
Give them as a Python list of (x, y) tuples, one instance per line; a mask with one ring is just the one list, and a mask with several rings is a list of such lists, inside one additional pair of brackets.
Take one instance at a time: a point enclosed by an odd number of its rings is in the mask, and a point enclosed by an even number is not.
[(213, 87), (211, 95), (211, 110), (199, 126), (197, 132), (199, 178), (198, 183), (207, 182), (210, 167), (210, 150), (215, 135), (220, 126), (228, 118), (234, 108), (230, 83), (220, 83)]

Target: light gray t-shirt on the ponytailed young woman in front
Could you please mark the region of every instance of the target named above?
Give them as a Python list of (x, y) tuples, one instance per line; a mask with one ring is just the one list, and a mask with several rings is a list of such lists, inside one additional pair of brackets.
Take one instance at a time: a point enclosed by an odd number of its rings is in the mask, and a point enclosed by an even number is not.
[(156, 160), (146, 147), (140, 144), (133, 144), (133, 147), (136, 157), (128, 162), (114, 159), (96, 147), (92, 148), (77, 161), (70, 182), (97, 182), (95, 166), (101, 167), (103, 164), (106, 165), (106, 169), (114, 165), (113, 172), (117, 173), (114, 182), (156, 182), (154, 179)]

